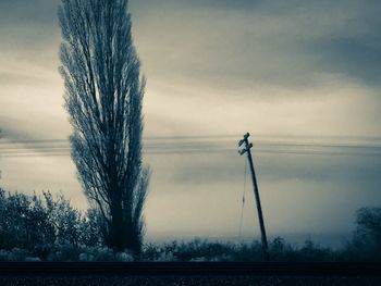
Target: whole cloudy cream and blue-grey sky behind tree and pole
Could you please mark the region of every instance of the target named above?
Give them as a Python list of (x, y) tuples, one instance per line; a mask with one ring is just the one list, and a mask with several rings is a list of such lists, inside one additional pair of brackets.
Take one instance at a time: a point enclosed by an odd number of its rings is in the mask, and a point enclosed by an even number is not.
[[(2, 148), (71, 134), (58, 4), (0, 1)], [(145, 153), (148, 239), (259, 237), (237, 153), (246, 132), (268, 236), (337, 245), (357, 209), (380, 207), (380, 1), (131, 0), (130, 12), (147, 78), (144, 144), (172, 146)], [(69, 153), (0, 151), (0, 169), (10, 191), (50, 189), (86, 208)]]

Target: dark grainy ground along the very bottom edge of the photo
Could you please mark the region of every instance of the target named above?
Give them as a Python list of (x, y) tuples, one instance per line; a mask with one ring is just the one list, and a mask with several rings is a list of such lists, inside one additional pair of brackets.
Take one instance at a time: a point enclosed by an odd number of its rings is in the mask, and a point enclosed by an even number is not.
[(241, 285), (381, 285), (380, 277), (311, 276), (0, 276), (2, 286), (241, 286)]

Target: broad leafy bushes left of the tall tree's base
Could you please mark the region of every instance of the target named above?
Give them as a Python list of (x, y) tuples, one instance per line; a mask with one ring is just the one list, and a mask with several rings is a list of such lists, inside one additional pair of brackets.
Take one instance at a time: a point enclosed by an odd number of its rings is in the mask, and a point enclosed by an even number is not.
[(79, 212), (62, 195), (42, 195), (7, 194), (0, 189), (0, 249), (20, 248), (46, 258), (57, 246), (102, 244), (93, 210)]

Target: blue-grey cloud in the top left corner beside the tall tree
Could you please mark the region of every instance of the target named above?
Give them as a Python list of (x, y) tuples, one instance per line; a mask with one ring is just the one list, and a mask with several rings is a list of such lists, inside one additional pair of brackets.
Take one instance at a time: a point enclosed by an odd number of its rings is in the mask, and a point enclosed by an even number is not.
[(4, 0), (0, 3), (0, 52), (8, 60), (53, 62), (60, 30), (57, 18), (59, 0)]

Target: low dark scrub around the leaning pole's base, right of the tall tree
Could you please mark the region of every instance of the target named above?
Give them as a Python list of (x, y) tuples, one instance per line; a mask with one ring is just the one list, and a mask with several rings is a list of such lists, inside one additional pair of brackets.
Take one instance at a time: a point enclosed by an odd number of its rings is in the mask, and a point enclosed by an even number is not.
[[(276, 237), (269, 244), (271, 261), (311, 262), (335, 261), (339, 252), (322, 248), (311, 240), (306, 240), (302, 247), (287, 244)], [(218, 243), (194, 239), (189, 243), (164, 244), (162, 246), (147, 245), (143, 250), (145, 261), (263, 261), (262, 247), (259, 241), (251, 244)]]

